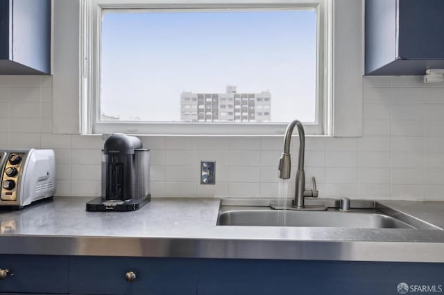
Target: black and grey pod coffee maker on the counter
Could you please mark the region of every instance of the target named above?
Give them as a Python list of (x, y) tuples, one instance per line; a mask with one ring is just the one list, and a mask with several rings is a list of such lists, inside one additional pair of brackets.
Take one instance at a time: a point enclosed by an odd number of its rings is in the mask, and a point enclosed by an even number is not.
[(102, 196), (87, 211), (135, 211), (150, 202), (149, 150), (135, 136), (113, 134), (102, 154)]

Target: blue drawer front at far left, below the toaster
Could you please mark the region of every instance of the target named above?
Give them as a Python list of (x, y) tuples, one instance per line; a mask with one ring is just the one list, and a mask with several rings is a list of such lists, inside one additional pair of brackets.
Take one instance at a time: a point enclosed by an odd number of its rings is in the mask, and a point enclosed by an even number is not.
[(68, 292), (67, 256), (0, 255), (0, 269), (9, 270), (0, 292)]

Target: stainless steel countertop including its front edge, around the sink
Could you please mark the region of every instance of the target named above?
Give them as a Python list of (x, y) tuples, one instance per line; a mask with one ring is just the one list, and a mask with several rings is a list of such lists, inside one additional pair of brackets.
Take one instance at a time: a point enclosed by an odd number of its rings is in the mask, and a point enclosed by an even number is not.
[[(0, 208), (0, 253), (444, 262), (444, 231), (216, 226), (219, 199), (154, 198), (139, 211), (87, 212), (92, 197)], [(444, 227), (444, 202), (380, 201)]]

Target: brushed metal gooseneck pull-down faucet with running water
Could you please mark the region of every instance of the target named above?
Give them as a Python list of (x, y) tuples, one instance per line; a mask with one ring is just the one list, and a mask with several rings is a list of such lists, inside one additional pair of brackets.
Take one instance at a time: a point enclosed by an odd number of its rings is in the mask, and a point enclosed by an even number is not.
[(316, 182), (313, 177), (313, 190), (305, 190), (305, 172), (304, 172), (304, 157), (305, 157), (305, 132), (304, 126), (299, 120), (293, 120), (293, 122), (287, 125), (284, 137), (284, 152), (279, 159), (279, 177), (282, 179), (289, 179), (291, 172), (291, 157), (290, 157), (290, 141), (293, 129), (296, 126), (299, 135), (299, 159), (298, 159), (298, 171), (296, 172), (296, 192), (294, 196), (293, 210), (326, 210), (325, 206), (305, 206), (304, 197), (311, 196), (317, 197)]

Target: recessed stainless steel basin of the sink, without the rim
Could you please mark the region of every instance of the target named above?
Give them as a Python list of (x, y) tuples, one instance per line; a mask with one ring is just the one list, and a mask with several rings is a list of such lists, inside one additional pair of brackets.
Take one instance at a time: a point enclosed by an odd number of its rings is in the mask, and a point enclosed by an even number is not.
[[(287, 216), (284, 217), (283, 214)], [(374, 210), (343, 211), (275, 211), (275, 210), (237, 210), (226, 211), (219, 215), (219, 225), (235, 226), (319, 226), (348, 227), (367, 229), (416, 229)]]

